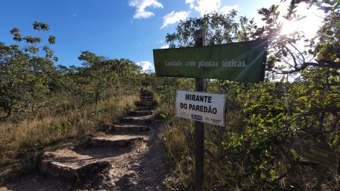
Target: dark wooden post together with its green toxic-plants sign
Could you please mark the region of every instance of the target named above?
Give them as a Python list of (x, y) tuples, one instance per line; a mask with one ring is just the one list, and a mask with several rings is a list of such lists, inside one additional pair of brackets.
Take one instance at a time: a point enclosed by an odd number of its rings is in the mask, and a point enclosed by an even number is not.
[[(206, 78), (237, 82), (263, 81), (268, 39), (205, 46), (205, 30), (198, 30), (195, 34), (195, 45), (176, 49), (154, 49), (156, 74), (164, 77), (195, 78), (196, 92), (207, 91)], [(204, 123), (194, 117), (191, 118), (196, 119), (196, 190), (202, 191)]]

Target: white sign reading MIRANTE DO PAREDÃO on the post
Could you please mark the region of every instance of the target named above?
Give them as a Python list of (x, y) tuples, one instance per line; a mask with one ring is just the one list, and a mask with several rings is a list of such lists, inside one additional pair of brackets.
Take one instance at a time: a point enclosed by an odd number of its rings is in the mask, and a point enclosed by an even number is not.
[(225, 94), (177, 90), (176, 116), (224, 126)]

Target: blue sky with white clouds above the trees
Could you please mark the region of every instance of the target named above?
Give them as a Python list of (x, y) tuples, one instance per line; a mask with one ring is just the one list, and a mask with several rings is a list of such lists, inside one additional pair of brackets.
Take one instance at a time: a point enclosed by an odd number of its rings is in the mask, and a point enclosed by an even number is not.
[[(236, 9), (238, 16), (256, 17), (262, 7), (279, 0), (0, 0), (0, 42), (15, 44), (9, 32), (36, 35), (35, 20), (50, 25), (40, 36), (54, 35), (56, 65), (81, 66), (81, 51), (108, 58), (129, 58), (154, 70), (152, 49), (166, 47), (166, 34), (176, 32), (179, 20), (212, 11)], [(286, 7), (282, 7), (284, 10)], [(21, 42), (23, 43), (23, 42)]]

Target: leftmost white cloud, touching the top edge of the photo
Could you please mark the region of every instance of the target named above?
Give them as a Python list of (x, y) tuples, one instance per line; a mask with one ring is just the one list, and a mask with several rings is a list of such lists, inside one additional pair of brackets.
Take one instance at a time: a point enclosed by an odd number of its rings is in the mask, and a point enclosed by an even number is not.
[(163, 5), (159, 3), (157, 0), (130, 0), (130, 6), (136, 7), (136, 13), (133, 18), (149, 18), (154, 16), (154, 13), (150, 11), (146, 11), (145, 8), (152, 7), (152, 8), (163, 8)]

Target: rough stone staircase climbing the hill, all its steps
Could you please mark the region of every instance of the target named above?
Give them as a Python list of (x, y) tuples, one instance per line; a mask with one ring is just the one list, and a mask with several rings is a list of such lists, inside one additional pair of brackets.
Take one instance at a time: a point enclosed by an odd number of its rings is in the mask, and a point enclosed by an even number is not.
[(42, 154), (39, 171), (86, 190), (127, 190), (136, 185), (140, 157), (152, 139), (152, 110), (156, 107), (149, 91), (141, 91), (135, 105), (137, 110), (121, 118), (110, 134), (92, 137), (90, 147)]

